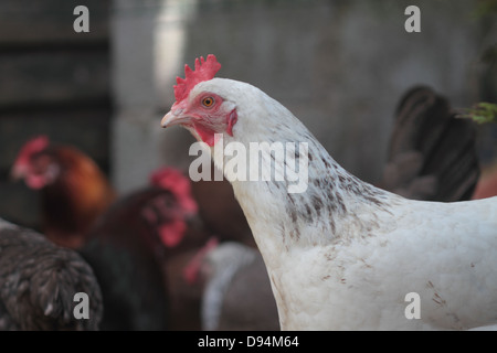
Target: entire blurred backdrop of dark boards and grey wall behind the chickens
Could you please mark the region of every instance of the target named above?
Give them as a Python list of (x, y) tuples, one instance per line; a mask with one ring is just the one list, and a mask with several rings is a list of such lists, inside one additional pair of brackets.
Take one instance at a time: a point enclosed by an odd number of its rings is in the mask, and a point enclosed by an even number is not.
[[(89, 32), (76, 33), (76, 6)], [(421, 10), (408, 33), (404, 10)], [(159, 165), (187, 168), (192, 137), (162, 130), (183, 65), (212, 53), (218, 76), (292, 110), (359, 178), (378, 180), (395, 105), (429, 85), (454, 108), (497, 101), (495, 0), (2, 0), (0, 216), (36, 227), (35, 191), (9, 180), (21, 146), (46, 133), (95, 159), (119, 192)], [(497, 127), (478, 126), (483, 165)]]

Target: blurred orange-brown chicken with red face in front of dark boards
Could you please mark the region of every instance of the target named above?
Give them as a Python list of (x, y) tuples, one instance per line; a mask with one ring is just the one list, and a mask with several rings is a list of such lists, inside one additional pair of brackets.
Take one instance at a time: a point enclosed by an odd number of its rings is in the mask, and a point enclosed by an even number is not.
[(115, 200), (98, 165), (74, 147), (53, 145), (46, 136), (28, 141), (12, 178), (41, 191), (42, 229), (61, 246), (78, 248), (96, 218)]

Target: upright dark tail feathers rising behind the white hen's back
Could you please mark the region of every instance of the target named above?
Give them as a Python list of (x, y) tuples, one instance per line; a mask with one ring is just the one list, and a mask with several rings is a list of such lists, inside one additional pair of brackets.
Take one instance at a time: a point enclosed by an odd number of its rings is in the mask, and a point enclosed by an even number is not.
[(413, 200), (469, 200), (480, 174), (473, 121), (458, 119), (445, 97), (408, 90), (395, 110), (379, 186)]

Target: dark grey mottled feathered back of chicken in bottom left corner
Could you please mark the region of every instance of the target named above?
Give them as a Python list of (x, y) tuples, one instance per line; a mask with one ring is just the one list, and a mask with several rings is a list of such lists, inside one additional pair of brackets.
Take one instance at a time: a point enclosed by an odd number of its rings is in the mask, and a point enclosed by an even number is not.
[[(74, 313), (81, 292), (88, 319)], [(0, 218), (0, 330), (97, 330), (102, 313), (101, 289), (78, 254)]]

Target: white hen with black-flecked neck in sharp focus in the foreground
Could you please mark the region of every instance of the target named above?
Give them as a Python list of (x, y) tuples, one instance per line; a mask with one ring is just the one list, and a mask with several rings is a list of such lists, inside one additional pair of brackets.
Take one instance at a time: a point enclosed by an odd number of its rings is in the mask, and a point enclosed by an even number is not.
[[(187, 67), (162, 127), (184, 126), (223, 167), (263, 254), (282, 329), (497, 323), (497, 197), (411, 201), (362, 182), (279, 103), (246, 83), (213, 78), (219, 68), (213, 55)], [(262, 152), (274, 175), (308, 161), (307, 189), (289, 193), (288, 178), (241, 181), (233, 153), (223, 153), (230, 142), (247, 150), (251, 142), (307, 142), (308, 153), (287, 149), (284, 160)]]

